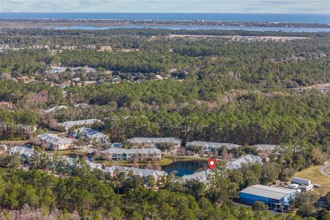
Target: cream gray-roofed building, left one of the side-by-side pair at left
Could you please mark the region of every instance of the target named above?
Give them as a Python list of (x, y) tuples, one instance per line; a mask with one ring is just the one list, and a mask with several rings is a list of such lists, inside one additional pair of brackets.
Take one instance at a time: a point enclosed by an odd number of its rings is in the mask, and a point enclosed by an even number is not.
[(58, 137), (56, 133), (43, 133), (38, 135), (44, 144), (48, 144), (51, 149), (61, 151), (72, 146), (73, 141), (67, 137)]

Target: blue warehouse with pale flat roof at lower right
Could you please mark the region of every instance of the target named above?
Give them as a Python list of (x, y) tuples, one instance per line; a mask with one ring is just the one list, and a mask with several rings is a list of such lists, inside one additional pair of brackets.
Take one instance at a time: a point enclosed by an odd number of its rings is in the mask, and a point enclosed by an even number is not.
[(281, 208), (288, 209), (297, 194), (297, 190), (294, 189), (257, 184), (241, 190), (239, 201), (248, 205), (262, 201), (272, 210), (281, 210)]

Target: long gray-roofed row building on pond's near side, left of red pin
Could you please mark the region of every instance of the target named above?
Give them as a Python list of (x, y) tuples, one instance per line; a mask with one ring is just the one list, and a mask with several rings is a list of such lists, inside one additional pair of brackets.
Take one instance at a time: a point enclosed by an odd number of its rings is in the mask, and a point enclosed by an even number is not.
[(162, 180), (164, 177), (167, 176), (167, 173), (164, 171), (159, 170), (148, 170), (148, 169), (141, 169), (141, 168), (133, 168), (133, 167), (126, 167), (126, 166), (106, 166), (102, 171), (104, 173), (108, 173), (111, 176), (115, 175), (115, 170), (118, 170), (119, 173), (129, 173), (130, 171), (133, 172), (133, 175), (140, 176), (140, 177), (148, 177), (153, 176), (156, 181)]

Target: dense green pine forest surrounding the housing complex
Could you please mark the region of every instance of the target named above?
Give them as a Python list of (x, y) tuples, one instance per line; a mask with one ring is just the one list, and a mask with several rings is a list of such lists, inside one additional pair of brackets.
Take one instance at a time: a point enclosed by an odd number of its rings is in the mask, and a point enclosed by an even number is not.
[[(306, 39), (237, 41), (169, 34)], [(30, 210), (30, 219), (329, 219), (314, 206), (300, 210), (299, 217), (234, 206), (232, 199), (246, 186), (285, 179), (329, 156), (330, 95), (315, 86), (330, 83), (330, 34), (2, 29), (0, 42), (11, 48), (0, 52), (0, 140), (28, 140), (56, 129), (56, 122), (97, 118), (104, 122), (98, 129), (111, 142), (179, 137), (183, 144), (286, 146), (274, 164), (223, 171), (207, 191), (197, 181), (182, 186), (170, 180), (160, 190), (147, 190), (137, 177), (109, 178), (89, 168), (59, 178), (42, 168), (17, 170), (14, 162), (1, 160), (7, 168), (0, 170), (0, 208), (5, 210), (0, 219), (13, 212), (20, 219)], [(102, 45), (112, 50), (98, 50)], [(75, 49), (62, 49), (67, 46)], [(52, 74), (51, 66), (67, 69)], [(85, 66), (95, 71), (72, 70)], [(58, 86), (76, 77), (82, 82)], [(74, 106), (79, 103), (88, 105)], [(58, 105), (67, 109), (42, 111)], [(30, 126), (36, 131), (26, 129)]]

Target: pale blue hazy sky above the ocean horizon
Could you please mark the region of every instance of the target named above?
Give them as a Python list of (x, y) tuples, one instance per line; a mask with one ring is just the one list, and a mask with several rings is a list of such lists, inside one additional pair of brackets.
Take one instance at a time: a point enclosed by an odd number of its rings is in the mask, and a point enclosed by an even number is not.
[(0, 0), (0, 12), (330, 13), (330, 0)]

